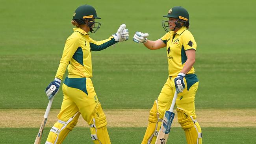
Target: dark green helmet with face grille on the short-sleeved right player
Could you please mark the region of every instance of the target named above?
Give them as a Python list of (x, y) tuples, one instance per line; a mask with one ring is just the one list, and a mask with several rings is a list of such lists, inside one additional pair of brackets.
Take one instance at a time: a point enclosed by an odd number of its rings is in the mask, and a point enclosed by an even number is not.
[[(175, 22), (176, 27), (175, 28), (181, 28), (182, 26), (189, 26), (189, 14), (187, 10), (184, 7), (176, 6), (169, 10), (167, 15), (164, 15), (163, 17), (167, 18), (177, 18), (178, 20)], [(168, 21), (162, 20), (162, 26), (165, 29), (165, 31), (168, 31), (169, 24)]]

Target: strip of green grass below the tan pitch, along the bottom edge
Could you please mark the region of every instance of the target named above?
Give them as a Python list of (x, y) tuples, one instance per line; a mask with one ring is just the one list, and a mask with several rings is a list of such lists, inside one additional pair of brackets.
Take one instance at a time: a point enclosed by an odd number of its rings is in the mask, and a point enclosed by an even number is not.
[[(46, 141), (50, 128), (43, 133), (42, 143)], [(146, 128), (108, 128), (112, 144), (139, 144)], [(255, 128), (202, 128), (204, 144), (253, 144)], [(0, 128), (0, 141), (3, 144), (31, 144), (37, 135), (37, 128)], [(241, 135), (243, 133), (243, 135)], [(185, 144), (184, 131), (179, 127), (171, 129), (169, 144)], [(74, 128), (63, 144), (93, 144), (89, 128)]]

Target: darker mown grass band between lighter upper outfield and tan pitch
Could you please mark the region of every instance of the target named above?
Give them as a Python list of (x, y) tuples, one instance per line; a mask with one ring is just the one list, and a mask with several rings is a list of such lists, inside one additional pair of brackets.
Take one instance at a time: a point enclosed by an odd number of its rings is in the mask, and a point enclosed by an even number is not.
[[(103, 107), (149, 109), (167, 79), (163, 55), (93, 54), (93, 84)], [(45, 108), (44, 89), (58, 67), (58, 63), (48, 63), (58, 59), (54, 55), (2, 55), (0, 108)], [(252, 54), (198, 54), (197, 108), (255, 108), (256, 82), (244, 77), (256, 77), (255, 65)], [(52, 107), (60, 107), (61, 102), (60, 91)]]

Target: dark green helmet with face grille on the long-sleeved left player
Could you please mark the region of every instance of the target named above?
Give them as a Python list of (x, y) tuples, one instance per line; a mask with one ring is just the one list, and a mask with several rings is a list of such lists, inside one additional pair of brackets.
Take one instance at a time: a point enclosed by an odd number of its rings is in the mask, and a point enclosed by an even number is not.
[(95, 33), (101, 25), (100, 22), (95, 22), (95, 18), (100, 19), (97, 16), (95, 8), (90, 5), (83, 5), (75, 10), (72, 20), (75, 20), (78, 24), (87, 25), (91, 29), (91, 32)]

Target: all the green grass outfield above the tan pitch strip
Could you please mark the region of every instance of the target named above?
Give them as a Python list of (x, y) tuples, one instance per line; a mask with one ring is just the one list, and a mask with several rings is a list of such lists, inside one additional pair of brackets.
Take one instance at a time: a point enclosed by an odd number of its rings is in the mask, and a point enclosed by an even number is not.
[[(3, 0), (0, 16), (0, 108), (45, 108), (45, 87), (54, 79), (65, 40), (72, 33), (74, 9), (82, 1)], [(184, 6), (197, 41), (197, 108), (256, 108), (256, 2), (129, 0), (88, 2), (108, 38), (126, 23), (130, 40), (93, 52), (93, 83), (104, 108), (150, 108), (167, 79), (165, 48), (150, 51), (132, 41), (135, 31), (156, 40), (161, 20), (173, 6)], [(33, 6), (32, 6), (33, 5)], [(200, 5), (200, 6), (199, 6)], [(249, 24), (244, 24), (249, 20)], [(62, 92), (54, 100), (59, 108)]]

